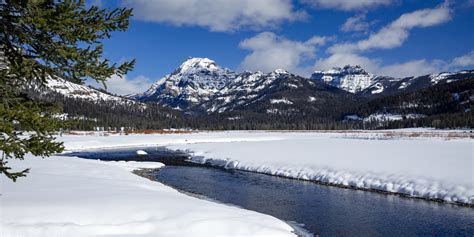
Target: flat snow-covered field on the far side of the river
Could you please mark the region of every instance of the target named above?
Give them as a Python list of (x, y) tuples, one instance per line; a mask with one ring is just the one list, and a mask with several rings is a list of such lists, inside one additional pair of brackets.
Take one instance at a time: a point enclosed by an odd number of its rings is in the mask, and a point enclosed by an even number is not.
[(473, 204), (470, 137), (465, 131), (403, 129), (64, 136), (62, 140), (73, 150), (162, 145), (193, 152), (195, 162), (230, 169)]

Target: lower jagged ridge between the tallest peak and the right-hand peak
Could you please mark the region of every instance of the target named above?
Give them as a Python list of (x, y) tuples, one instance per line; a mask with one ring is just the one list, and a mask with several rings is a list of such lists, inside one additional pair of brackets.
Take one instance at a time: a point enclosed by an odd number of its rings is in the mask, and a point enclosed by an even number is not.
[(350, 93), (277, 69), (267, 74), (244, 72), (201, 107), (224, 114), (335, 118), (351, 104), (354, 96)]

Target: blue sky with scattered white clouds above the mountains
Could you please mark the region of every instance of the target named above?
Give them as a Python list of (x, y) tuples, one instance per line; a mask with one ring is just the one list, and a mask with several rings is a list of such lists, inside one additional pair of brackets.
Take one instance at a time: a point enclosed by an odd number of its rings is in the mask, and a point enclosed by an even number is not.
[[(346, 64), (405, 77), (474, 68), (474, 0), (117, 0), (129, 30), (105, 41), (106, 58), (135, 58), (108, 90), (146, 90), (188, 57), (308, 76)], [(94, 84), (94, 83), (90, 83)]]

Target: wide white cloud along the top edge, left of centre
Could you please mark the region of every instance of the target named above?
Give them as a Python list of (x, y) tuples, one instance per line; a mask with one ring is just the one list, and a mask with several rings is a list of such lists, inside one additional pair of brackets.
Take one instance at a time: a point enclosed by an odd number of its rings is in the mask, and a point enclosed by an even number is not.
[(292, 0), (123, 0), (138, 20), (211, 31), (273, 28), (306, 17)]

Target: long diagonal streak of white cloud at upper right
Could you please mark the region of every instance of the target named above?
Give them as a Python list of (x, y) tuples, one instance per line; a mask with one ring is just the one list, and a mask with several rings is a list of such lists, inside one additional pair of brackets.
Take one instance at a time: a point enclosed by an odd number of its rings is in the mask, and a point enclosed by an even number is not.
[(336, 44), (329, 51), (334, 53), (399, 47), (407, 40), (411, 29), (435, 26), (449, 20), (451, 20), (451, 9), (447, 3), (443, 3), (436, 8), (405, 13), (367, 39), (356, 43)]

